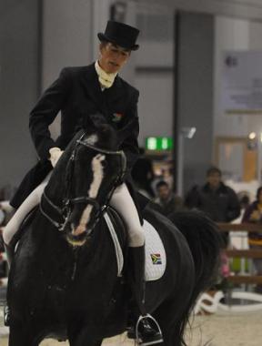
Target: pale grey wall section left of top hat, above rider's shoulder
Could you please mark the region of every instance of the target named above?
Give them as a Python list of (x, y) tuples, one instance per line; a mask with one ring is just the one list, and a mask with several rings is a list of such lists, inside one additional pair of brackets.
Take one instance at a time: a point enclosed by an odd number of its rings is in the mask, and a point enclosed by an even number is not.
[(42, 86), (62, 67), (85, 66), (92, 61), (92, 1), (43, 1)]

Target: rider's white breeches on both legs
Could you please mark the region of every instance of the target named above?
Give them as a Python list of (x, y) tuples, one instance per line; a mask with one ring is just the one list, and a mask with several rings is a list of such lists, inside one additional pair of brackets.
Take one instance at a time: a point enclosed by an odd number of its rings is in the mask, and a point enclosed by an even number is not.
[[(23, 204), (15, 211), (13, 218), (10, 219), (5, 226), (3, 231), (5, 244), (8, 245), (10, 243), (26, 215), (40, 203), (41, 196), (50, 176), (51, 173), (49, 173), (45, 180), (31, 192)], [(130, 196), (128, 188), (126, 188), (126, 184), (122, 184), (116, 188), (109, 204), (115, 208), (124, 219), (128, 231), (129, 246), (133, 248), (143, 246), (145, 243), (144, 229), (140, 225), (135, 203)]]

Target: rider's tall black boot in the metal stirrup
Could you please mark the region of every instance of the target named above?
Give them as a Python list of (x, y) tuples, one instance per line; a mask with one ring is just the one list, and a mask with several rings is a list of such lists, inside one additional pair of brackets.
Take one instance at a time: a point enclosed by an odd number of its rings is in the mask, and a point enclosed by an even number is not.
[(156, 320), (146, 314), (145, 307), (145, 246), (128, 249), (128, 257), (131, 262), (132, 290), (136, 299), (138, 310), (141, 314), (136, 322), (134, 331), (127, 333), (128, 337), (136, 337), (139, 345), (147, 346), (163, 342), (162, 333)]

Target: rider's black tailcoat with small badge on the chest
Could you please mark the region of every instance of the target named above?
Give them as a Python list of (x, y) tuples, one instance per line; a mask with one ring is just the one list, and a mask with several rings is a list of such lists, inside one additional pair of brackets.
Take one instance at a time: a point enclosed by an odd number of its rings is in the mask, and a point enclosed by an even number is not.
[[(116, 76), (113, 86), (101, 90), (95, 64), (66, 67), (55, 82), (45, 90), (30, 113), (29, 128), (39, 161), (23, 179), (11, 205), (18, 208), (29, 193), (36, 188), (52, 169), (49, 149), (65, 149), (76, 132), (82, 128), (86, 117), (102, 113), (119, 133), (119, 149), (124, 150), (127, 160), (127, 181), (130, 169), (138, 157), (137, 117), (138, 91), (124, 79)], [(61, 110), (61, 134), (54, 140), (49, 132)]]

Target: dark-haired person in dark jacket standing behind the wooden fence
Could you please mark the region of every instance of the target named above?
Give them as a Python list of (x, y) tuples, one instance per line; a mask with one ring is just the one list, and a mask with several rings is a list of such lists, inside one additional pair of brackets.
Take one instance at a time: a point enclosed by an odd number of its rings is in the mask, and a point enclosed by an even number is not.
[[(207, 169), (207, 183), (189, 190), (185, 204), (188, 209), (200, 209), (215, 222), (231, 222), (240, 215), (240, 203), (233, 188), (227, 187), (217, 167)], [(223, 234), (224, 235), (224, 234)], [(227, 244), (228, 234), (224, 235)]]

